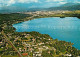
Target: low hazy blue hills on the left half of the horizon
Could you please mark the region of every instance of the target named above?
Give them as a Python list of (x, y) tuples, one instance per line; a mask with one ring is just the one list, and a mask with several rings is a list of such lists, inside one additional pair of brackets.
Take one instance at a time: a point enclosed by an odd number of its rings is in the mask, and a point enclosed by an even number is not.
[(44, 10), (44, 8), (18, 8), (18, 9), (5, 9), (0, 10), (0, 13), (16, 13), (16, 12), (33, 12), (33, 11), (41, 11)]

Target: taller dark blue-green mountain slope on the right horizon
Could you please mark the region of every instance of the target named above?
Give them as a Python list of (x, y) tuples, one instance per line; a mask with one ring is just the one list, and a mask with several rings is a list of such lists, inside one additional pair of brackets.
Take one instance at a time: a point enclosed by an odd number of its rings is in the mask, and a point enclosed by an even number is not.
[(79, 3), (67, 3), (59, 7), (51, 7), (48, 10), (80, 10)]

